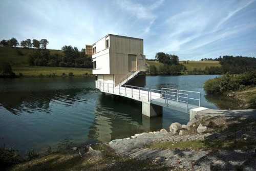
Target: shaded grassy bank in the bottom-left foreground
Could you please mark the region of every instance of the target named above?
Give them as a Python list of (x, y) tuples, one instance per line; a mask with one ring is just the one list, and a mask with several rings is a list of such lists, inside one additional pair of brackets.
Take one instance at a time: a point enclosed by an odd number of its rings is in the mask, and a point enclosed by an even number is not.
[(153, 164), (150, 160), (139, 161), (115, 155), (110, 147), (98, 144), (92, 146), (100, 152), (86, 153), (82, 156), (77, 151), (53, 153), (33, 160), (16, 164), (9, 170), (170, 170), (161, 163)]

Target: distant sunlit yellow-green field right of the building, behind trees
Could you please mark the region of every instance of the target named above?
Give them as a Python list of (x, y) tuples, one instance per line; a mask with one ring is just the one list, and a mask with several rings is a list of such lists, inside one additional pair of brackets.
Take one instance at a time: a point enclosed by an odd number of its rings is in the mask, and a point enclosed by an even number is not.
[[(158, 61), (150, 61), (147, 60), (146, 63), (148, 63), (148, 65), (154, 65), (157, 68), (159, 68), (159, 66), (163, 65), (163, 63), (160, 63)], [(183, 64), (184, 66), (186, 66), (187, 71), (191, 71), (193, 69), (202, 69), (204, 70), (204, 68), (206, 66), (210, 67), (210, 66), (215, 66), (215, 67), (220, 67), (220, 62), (219, 61), (215, 61), (215, 60), (206, 60), (206, 61), (188, 61), (188, 63), (183, 63), (183, 61), (179, 62), (180, 64)]]

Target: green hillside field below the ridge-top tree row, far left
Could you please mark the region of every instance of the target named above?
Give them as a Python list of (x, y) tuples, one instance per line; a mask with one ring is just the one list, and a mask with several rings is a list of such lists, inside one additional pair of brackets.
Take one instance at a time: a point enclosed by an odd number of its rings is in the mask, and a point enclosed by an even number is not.
[[(20, 50), (23, 55), (18, 55), (17, 50)], [(29, 54), (36, 49), (26, 49), (26, 48), (12, 48), (12, 47), (0, 47), (0, 63), (3, 61), (9, 62), (10, 65), (29, 65), (28, 58)], [(51, 54), (61, 53), (61, 50), (51, 50)]]

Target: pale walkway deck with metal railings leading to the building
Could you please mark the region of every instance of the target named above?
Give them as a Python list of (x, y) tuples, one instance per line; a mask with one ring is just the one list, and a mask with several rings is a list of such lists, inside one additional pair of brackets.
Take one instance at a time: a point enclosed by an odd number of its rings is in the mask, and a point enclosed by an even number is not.
[[(176, 101), (179, 103), (186, 104), (186, 107), (188, 109), (189, 107), (189, 100), (196, 100), (199, 101), (199, 105), (201, 105), (201, 93), (195, 92), (195, 91), (187, 91), (187, 90), (177, 90), (177, 89), (168, 89), (168, 88), (162, 88), (161, 90), (157, 89), (149, 89), (149, 88), (143, 88), (143, 87), (137, 87), (137, 86), (130, 86), (125, 84), (115, 84), (115, 83), (108, 83), (108, 82), (101, 82), (101, 81), (95, 81), (96, 88), (101, 90), (102, 92), (108, 92), (113, 94), (119, 94), (125, 97), (130, 98), (137, 98), (141, 100), (143, 97), (144, 100), (147, 99), (148, 102), (152, 103), (152, 100), (157, 99), (163, 99), (163, 103), (165, 103), (165, 106), (169, 106), (172, 102), (170, 101)], [(185, 93), (187, 92), (187, 93)], [(189, 93), (198, 94), (199, 98), (190, 97)], [(178, 104), (178, 103), (173, 103)]]

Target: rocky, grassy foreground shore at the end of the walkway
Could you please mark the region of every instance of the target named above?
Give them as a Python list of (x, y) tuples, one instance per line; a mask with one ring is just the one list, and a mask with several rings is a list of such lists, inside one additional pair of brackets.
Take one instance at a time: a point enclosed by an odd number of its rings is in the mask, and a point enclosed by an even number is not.
[(204, 110), (186, 125), (73, 147), (9, 170), (256, 170), (256, 110)]

